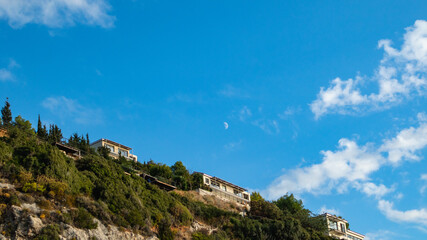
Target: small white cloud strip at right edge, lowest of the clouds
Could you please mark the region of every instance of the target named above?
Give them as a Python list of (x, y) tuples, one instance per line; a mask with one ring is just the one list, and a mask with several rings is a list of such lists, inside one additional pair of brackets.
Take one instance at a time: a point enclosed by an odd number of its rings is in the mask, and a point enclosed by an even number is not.
[(396, 210), (392, 202), (378, 201), (378, 209), (391, 221), (422, 224), (427, 226), (427, 209)]

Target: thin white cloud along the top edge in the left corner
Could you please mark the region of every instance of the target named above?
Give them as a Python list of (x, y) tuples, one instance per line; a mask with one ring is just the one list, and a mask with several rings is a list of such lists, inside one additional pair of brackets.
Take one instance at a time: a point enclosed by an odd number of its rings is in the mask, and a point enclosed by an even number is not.
[(0, 0), (0, 19), (13, 28), (29, 23), (54, 28), (76, 23), (108, 28), (115, 20), (109, 10), (105, 0)]

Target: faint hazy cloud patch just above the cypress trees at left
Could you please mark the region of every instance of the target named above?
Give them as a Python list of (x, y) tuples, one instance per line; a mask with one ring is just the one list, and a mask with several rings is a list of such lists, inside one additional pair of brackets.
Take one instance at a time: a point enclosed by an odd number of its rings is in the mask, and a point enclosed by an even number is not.
[(62, 121), (68, 119), (78, 124), (99, 124), (103, 122), (101, 109), (92, 109), (81, 105), (76, 100), (60, 97), (49, 97), (43, 100), (42, 106), (51, 111), (52, 114), (61, 118)]

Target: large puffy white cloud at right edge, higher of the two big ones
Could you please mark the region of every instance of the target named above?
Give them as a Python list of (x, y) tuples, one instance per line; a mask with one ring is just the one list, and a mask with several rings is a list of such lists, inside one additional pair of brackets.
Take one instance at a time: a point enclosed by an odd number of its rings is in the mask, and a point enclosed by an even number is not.
[(392, 106), (405, 98), (420, 96), (427, 88), (427, 22), (417, 20), (406, 29), (401, 50), (391, 46), (390, 40), (380, 40), (384, 49), (376, 74), (372, 80), (378, 92), (363, 94), (362, 78), (334, 79), (328, 88), (322, 87), (317, 99), (310, 104), (318, 119), (325, 114), (351, 114), (379, 110)]

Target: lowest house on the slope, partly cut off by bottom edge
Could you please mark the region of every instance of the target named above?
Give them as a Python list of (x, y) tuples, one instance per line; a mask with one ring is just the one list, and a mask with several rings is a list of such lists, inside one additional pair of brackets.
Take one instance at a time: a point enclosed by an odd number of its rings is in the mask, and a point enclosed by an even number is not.
[(326, 218), (328, 235), (342, 240), (363, 240), (364, 235), (348, 229), (348, 221), (335, 215), (325, 213), (321, 215)]

